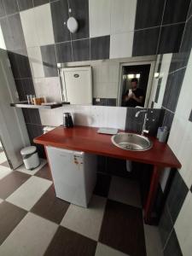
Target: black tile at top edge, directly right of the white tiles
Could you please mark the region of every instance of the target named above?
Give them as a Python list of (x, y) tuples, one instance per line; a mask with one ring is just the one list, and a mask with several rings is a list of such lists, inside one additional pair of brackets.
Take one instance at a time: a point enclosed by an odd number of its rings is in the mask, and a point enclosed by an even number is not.
[(137, 0), (135, 29), (160, 26), (165, 0)]

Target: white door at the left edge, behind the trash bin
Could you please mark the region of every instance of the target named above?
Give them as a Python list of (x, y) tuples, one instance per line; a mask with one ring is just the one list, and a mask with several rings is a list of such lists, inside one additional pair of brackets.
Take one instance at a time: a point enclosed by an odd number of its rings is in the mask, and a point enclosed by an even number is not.
[(7, 52), (0, 49), (0, 137), (13, 169), (22, 164), (20, 148), (30, 145), (21, 109), (10, 107), (10, 102), (18, 102), (16, 96)]

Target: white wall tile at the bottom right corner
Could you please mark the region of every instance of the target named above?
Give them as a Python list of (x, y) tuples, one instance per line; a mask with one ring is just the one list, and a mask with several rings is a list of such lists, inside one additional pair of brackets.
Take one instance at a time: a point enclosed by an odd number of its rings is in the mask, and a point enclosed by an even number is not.
[(192, 212), (192, 194), (189, 191), (183, 203), (183, 207), (178, 214), (175, 227), (174, 227), (182, 253), (185, 256), (190, 256), (192, 252), (191, 212)]

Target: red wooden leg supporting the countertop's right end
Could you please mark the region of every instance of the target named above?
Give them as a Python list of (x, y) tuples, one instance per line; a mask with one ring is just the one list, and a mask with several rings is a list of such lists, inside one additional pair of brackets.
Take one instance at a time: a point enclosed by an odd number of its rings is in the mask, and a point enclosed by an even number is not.
[(144, 222), (146, 224), (151, 224), (151, 213), (154, 207), (154, 201), (157, 194), (159, 180), (160, 180), (160, 167), (154, 166), (152, 176), (151, 176), (151, 181), (150, 181), (150, 187), (148, 191), (148, 198), (144, 206)]

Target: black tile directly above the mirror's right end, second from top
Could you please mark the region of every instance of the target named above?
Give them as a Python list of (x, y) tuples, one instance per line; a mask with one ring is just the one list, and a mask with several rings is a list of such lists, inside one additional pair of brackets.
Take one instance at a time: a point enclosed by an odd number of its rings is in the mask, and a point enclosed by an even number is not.
[(155, 55), (160, 35), (160, 27), (134, 32), (133, 56)]

